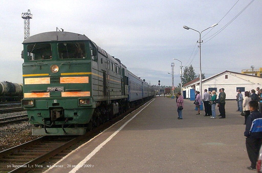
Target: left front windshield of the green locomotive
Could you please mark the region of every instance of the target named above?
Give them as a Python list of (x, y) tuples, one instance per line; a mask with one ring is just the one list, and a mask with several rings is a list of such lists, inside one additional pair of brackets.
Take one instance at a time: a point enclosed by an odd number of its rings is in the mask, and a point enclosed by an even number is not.
[(27, 58), (29, 61), (52, 59), (51, 44), (30, 44), (27, 45)]

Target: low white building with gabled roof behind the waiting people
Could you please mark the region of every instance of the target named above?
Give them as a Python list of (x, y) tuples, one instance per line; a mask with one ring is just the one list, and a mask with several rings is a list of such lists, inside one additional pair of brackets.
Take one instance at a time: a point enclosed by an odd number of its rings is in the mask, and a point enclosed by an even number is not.
[[(257, 87), (262, 88), (262, 77), (231, 71), (224, 71), (202, 80), (202, 92), (204, 92), (204, 89), (218, 92), (220, 88), (224, 88), (226, 99), (236, 99), (238, 89), (242, 91), (244, 96), (244, 91), (256, 90)], [(199, 78), (184, 84), (183, 88), (186, 98), (190, 98), (191, 95), (190, 100), (194, 100), (195, 90), (200, 90)]]

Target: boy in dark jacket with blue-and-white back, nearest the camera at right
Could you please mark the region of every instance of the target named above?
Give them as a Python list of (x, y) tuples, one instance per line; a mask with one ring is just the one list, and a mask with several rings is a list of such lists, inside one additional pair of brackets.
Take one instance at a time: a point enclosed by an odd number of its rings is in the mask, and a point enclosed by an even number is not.
[(251, 166), (247, 167), (247, 169), (255, 170), (259, 149), (262, 143), (262, 114), (258, 112), (257, 101), (250, 101), (249, 107), (251, 114), (247, 117), (247, 125), (244, 132), (244, 136), (247, 137), (247, 154), (251, 161)]

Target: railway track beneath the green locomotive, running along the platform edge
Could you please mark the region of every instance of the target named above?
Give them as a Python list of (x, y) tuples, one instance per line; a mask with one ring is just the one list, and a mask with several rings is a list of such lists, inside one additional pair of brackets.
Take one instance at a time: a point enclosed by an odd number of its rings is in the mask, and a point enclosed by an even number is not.
[[(125, 113), (78, 137), (44, 136), (4, 150), (0, 152), (0, 170), (4, 173), (24, 173), (29, 170), (42, 172), (48, 168), (47, 165), (56, 163), (57, 159), (63, 158), (63, 156), (70, 153), (79, 145), (86, 143), (112, 124), (122, 120), (128, 113), (135, 109), (137, 109), (137, 107), (129, 109)], [(0, 173), (2, 172), (0, 171)]]

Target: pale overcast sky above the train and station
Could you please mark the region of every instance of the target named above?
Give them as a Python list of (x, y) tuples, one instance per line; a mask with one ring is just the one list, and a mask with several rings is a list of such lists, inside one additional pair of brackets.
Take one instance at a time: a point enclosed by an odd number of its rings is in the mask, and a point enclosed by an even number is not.
[[(202, 33), (202, 73), (206, 77), (225, 70), (241, 72), (252, 65), (259, 68), (262, 67), (262, 1), (255, 0), (245, 9), (250, 2), (252, 0), (1, 1), (0, 81), (23, 82), (20, 54), (24, 19), (21, 13), (28, 9), (33, 15), (31, 36), (56, 31), (56, 27), (85, 34), (151, 85), (156, 85), (158, 80), (161, 85), (172, 85), (171, 75), (167, 74), (171, 73), (172, 62), (175, 63), (174, 83), (178, 85), (180, 62), (173, 58), (182, 61), (183, 66), (192, 64), (199, 74), (199, 52), (196, 52), (199, 33), (184, 29), (184, 25), (202, 31), (219, 23)], [(221, 32), (209, 40), (219, 30)]]

